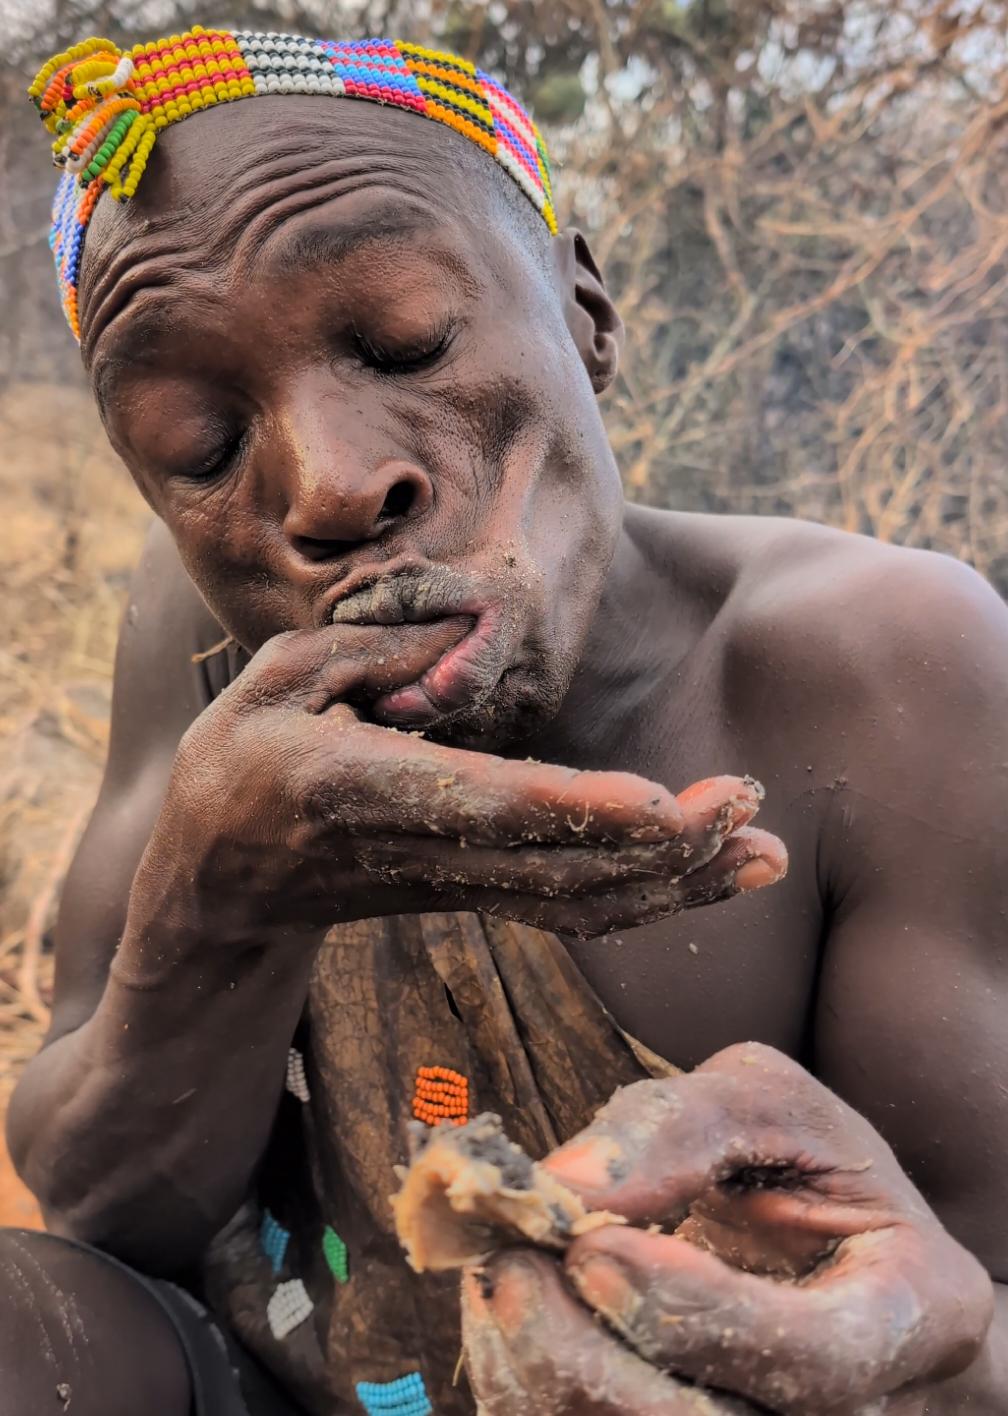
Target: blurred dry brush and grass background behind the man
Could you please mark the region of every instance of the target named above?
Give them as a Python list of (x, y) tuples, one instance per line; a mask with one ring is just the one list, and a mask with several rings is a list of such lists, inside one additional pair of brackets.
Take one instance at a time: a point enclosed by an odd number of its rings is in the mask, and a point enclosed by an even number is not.
[(479, 59), (539, 118), (562, 219), (626, 316), (606, 416), (630, 494), (932, 547), (1008, 592), (1002, 0), (0, 0), (0, 17), (8, 1072), (45, 1020), (45, 930), (101, 770), (146, 520), (45, 249), (54, 178), (24, 88), (67, 42), (204, 23)]

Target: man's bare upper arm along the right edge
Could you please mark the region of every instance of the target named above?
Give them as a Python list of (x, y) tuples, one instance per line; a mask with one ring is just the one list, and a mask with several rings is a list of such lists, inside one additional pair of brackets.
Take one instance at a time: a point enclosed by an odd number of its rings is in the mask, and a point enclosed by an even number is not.
[(882, 627), (823, 835), (815, 1070), (1004, 1280), (1008, 607), (954, 562), (910, 564), (861, 622)]

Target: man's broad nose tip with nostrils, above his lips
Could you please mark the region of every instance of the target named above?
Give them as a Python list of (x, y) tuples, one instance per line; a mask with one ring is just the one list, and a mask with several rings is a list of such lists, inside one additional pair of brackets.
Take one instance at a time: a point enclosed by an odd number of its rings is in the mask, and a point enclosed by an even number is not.
[(297, 480), (283, 518), (290, 545), (309, 561), (345, 555), (377, 541), (426, 511), (433, 500), (430, 477), (401, 459), (365, 466), (360, 456), (333, 456), (323, 476)]

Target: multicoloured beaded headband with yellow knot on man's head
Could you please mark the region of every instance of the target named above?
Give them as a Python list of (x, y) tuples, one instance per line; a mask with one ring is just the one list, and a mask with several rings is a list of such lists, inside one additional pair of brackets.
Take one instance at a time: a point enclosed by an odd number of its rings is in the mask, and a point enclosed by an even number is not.
[(204, 108), (269, 93), (389, 103), (446, 123), (483, 147), (556, 231), (549, 159), (525, 109), (469, 59), (401, 40), (307, 40), (204, 30), (119, 50), (84, 40), (54, 55), (28, 89), (64, 167), (50, 246), (67, 321), (81, 338), (76, 279), (95, 202), (132, 197), (159, 132)]

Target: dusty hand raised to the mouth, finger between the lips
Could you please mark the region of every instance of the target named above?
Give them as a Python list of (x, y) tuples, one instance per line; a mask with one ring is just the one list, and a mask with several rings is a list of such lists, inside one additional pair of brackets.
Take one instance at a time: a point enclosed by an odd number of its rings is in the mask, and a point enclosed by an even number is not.
[(134, 891), (207, 882), (269, 925), (423, 909), (597, 935), (784, 874), (739, 777), (678, 800), (629, 773), (437, 746), (350, 702), (409, 684), (469, 626), (348, 626), (270, 640), (185, 735)]

